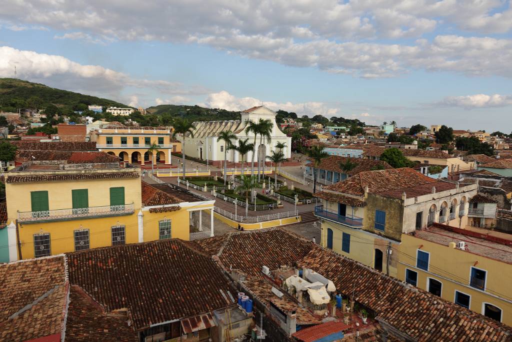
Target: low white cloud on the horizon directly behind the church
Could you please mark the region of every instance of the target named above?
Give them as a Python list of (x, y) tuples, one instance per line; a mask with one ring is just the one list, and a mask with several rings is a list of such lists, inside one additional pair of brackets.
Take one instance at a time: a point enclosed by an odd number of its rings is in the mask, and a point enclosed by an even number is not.
[(262, 102), (262, 100), (254, 97), (236, 97), (223, 90), (218, 93), (208, 95), (206, 102), (199, 104), (209, 108), (222, 108), (232, 111), (241, 111), (254, 106), (261, 106), (262, 103), (272, 110), (285, 110), (287, 112), (295, 112), (297, 115), (316, 115), (333, 116), (338, 112), (337, 108), (330, 108), (321, 102), (305, 102), (305, 103), (275, 103)]

